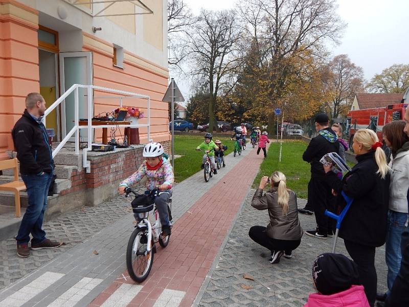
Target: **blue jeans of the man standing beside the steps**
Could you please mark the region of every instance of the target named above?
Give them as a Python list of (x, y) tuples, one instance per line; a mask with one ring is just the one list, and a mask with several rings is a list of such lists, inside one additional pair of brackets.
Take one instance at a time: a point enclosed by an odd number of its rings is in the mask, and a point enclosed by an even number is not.
[(21, 175), (26, 184), (29, 205), (22, 217), (20, 228), (16, 237), (17, 244), (27, 244), (30, 233), (33, 236), (32, 245), (42, 243), (46, 239), (46, 232), (42, 230), (44, 211), (47, 209), (48, 188), (53, 178), (53, 173), (43, 175)]

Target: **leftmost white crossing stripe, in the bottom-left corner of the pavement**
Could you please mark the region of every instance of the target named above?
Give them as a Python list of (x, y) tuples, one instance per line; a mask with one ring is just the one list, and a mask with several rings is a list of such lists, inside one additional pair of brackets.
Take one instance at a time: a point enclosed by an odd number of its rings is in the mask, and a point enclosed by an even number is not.
[(46, 272), (27, 284), (27, 286), (22, 287), (20, 290), (1, 301), (0, 306), (20, 307), (40, 292), (46, 290), (64, 275), (65, 274), (61, 273)]

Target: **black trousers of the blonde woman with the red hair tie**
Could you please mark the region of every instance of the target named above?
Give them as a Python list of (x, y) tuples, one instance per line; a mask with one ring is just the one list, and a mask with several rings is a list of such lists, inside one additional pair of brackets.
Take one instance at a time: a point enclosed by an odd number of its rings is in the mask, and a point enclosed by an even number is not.
[(345, 247), (358, 266), (359, 280), (365, 288), (369, 305), (373, 307), (376, 298), (377, 276), (375, 269), (375, 247), (360, 245), (344, 240)]

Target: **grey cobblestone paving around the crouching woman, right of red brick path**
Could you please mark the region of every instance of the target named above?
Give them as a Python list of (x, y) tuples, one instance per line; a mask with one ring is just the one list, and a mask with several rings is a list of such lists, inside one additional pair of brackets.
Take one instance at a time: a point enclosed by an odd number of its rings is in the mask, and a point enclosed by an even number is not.
[[(248, 236), (250, 227), (268, 224), (267, 211), (251, 207), (254, 193), (252, 189), (247, 194), (237, 221), (225, 239), (225, 246), (213, 262), (211, 272), (196, 297), (195, 305), (299, 307), (306, 303), (309, 293), (316, 292), (312, 285), (312, 262), (320, 253), (331, 252), (333, 238), (322, 240), (304, 235), (292, 258), (282, 257), (278, 264), (270, 264), (267, 260), (269, 251)], [(299, 199), (299, 208), (303, 208), (305, 203), (305, 200)], [(299, 216), (304, 230), (315, 228), (314, 215)], [(348, 256), (343, 239), (338, 238), (335, 252)], [(376, 250), (375, 261), (378, 291), (384, 292), (387, 290), (384, 247)], [(254, 277), (254, 281), (243, 278), (244, 274)], [(245, 290), (242, 286), (251, 289)]]

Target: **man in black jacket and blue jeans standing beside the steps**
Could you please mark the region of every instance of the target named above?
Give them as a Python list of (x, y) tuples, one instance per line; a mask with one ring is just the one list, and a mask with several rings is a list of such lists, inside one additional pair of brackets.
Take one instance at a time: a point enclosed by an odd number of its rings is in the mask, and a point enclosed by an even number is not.
[(21, 178), (27, 187), (29, 203), (16, 237), (17, 255), (20, 257), (30, 256), (30, 233), (33, 236), (32, 250), (56, 248), (61, 245), (47, 239), (46, 232), (42, 230), (48, 188), (54, 171), (47, 130), (41, 122), (45, 111), (44, 98), (38, 93), (28, 94), (24, 114), (12, 130), (14, 148), (17, 150)]

